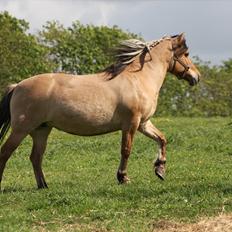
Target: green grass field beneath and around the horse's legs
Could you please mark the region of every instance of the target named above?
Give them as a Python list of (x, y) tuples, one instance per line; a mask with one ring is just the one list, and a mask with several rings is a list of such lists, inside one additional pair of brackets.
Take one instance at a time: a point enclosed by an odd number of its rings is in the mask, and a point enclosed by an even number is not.
[(78, 137), (54, 130), (37, 190), (27, 138), (9, 160), (0, 231), (155, 231), (159, 221), (193, 222), (232, 212), (232, 120), (156, 118), (168, 140), (165, 181), (153, 172), (157, 145), (137, 134), (131, 183), (118, 185), (120, 132)]

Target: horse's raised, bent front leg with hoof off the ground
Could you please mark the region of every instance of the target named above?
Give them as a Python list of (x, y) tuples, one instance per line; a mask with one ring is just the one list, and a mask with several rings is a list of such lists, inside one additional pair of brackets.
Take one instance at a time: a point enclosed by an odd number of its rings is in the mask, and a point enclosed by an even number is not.
[(138, 129), (141, 133), (147, 137), (155, 140), (159, 144), (158, 156), (154, 162), (155, 174), (162, 180), (164, 180), (165, 163), (166, 163), (166, 144), (167, 140), (163, 133), (160, 132), (151, 121), (147, 121), (139, 126)]

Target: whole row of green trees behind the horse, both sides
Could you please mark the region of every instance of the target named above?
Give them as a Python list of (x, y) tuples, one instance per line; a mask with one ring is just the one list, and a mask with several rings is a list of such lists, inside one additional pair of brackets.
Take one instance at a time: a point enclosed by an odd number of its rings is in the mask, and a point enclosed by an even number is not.
[[(0, 93), (7, 84), (45, 72), (87, 74), (103, 70), (113, 62), (109, 52), (119, 41), (140, 35), (117, 26), (64, 27), (47, 22), (36, 34), (29, 23), (8, 12), (0, 13)], [(232, 59), (211, 66), (198, 57), (194, 62), (202, 74), (199, 85), (190, 87), (168, 74), (160, 92), (159, 116), (232, 115)]]

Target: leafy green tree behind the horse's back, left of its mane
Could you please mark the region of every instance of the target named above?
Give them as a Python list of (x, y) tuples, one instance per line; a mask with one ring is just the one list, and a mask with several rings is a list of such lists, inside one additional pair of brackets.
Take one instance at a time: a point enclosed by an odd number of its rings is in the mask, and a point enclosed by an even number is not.
[(75, 21), (65, 28), (59, 22), (48, 22), (39, 34), (40, 42), (49, 47), (50, 58), (58, 70), (74, 74), (94, 73), (112, 62), (109, 50), (120, 40), (137, 38), (117, 26), (83, 25)]

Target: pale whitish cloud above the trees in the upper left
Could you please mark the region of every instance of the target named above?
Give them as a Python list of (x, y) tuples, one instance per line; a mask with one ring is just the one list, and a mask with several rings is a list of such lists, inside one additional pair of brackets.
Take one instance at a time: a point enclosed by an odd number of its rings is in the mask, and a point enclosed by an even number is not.
[(75, 20), (85, 24), (108, 25), (111, 12), (118, 2), (71, 1), (71, 0), (3, 0), (0, 11), (8, 11), (31, 24), (32, 30), (41, 29), (46, 21), (58, 20), (70, 26)]

